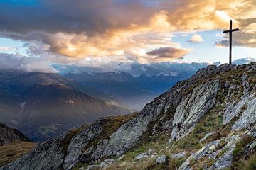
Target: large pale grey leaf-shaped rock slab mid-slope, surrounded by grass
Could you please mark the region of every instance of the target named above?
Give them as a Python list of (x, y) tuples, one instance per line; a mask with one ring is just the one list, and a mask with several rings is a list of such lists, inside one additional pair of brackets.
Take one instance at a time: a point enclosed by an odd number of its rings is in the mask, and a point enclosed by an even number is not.
[(218, 89), (218, 80), (209, 81), (193, 89), (191, 94), (181, 101), (174, 114), (171, 140), (178, 140), (193, 130), (193, 126), (215, 103)]

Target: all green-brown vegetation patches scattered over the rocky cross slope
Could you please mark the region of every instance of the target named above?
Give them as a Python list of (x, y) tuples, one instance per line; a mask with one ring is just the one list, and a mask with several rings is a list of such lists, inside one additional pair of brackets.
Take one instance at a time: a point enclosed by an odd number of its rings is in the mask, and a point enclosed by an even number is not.
[[(136, 148), (130, 149), (124, 156), (121, 161), (114, 162), (114, 164), (108, 166), (107, 169), (124, 169), (129, 167), (129, 169), (178, 169), (179, 166), (188, 158), (189, 154), (186, 157), (181, 157), (178, 159), (169, 158), (171, 154), (178, 152), (196, 152), (198, 149), (201, 149), (204, 145), (214, 140), (220, 140), (223, 137), (226, 137), (230, 134), (230, 128), (232, 127), (235, 119), (230, 121), (227, 125), (223, 125), (223, 113), (225, 113), (226, 103), (230, 102), (238, 102), (240, 101), (241, 96), (243, 95), (244, 87), (242, 86), (242, 75), (247, 74), (248, 82), (250, 84), (256, 83), (256, 72), (245, 71), (245, 67), (238, 66), (236, 69), (233, 69), (229, 72), (221, 72), (219, 74), (213, 74), (206, 79), (196, 79), (191, 86), (188, 86), (187, 89), (182, 91), (183, 96), (191, 93), (196, 86), (200, 86), (200, 84), (206, 83), (206, 81), (210, 81), (213, 79), (220, 80), (220, 89), (218, 90), (218, 94), (216, 96), (215, 105), (213, 108), (203, 115), (201, 120), (196, 123), (193, 128), (193, 131), (186, 135), (186, 137), (181, 137), (176, 142), (172, 142), (171, 145), (166, 145), (166, 142), (169, 140), (169, 134), (161, 133), (163, 130), (161, 129), (161, 121), (160, 118), (164, 118), (164, 120), (171, 120), (176, 111), (176, 106), (170, 106), (167, 114), (167, 117), (164, 117), (164, 109), (159, 113), (159, 117), (156, 118), (156, 121), (149, 123), (148, 131), (141, 138), (141, 143), (137, 145)], [(234, 89), (229, 91), (226, 84), (234, 85)], [(227, 96), (229, 97), (227, 98)], [(228, 99), (228, 101), (227, 101)], [(243, 106), (240, 114), (247, 106)], [(116, 120), (114, 120), (116, 121)], [(117, 121), (118, 122), (118, 121)], [(122, 124), (122, 120), (119, 121)], [(105, 135), (101, 135), (100, 139), (104, 139), (109, 137), (109, 135), (114, 132), (114, 130), (119, 127), (119, 123), (114, 124), (113, 127), (108, 127), (109, 123), (105, 124), (105, 128), (109, 128), (105, 132)], [(154, 126), (156, 125), (156, 127)], [(160, 133), (160, 135), (152, 135), (153, 129)], [(201, 138), (203, 138), (207, 133), (214, 132), (213, 135), (210, 135), (203, 142), (199, 142)], [(100, 140), (99, 139), (99, 140)], [(99, 140), (95, 140), (92, 142), (90, 146), (96, 145)], [(237, 147), (234, 150), (234, 163), (231, 168), (228, 169), (256, 169), (256, 156), (255, 152), (250, 153), (245, 157), (245, 146), (250, 143), (252, 139), (245, 138), (240, 141)], [(216, 150), (222, 149), (218, 155), (217, 159), (221, 157), (228, 149), (223, 149), (223, 147), (227, 145), (225, 140), (220, 140), (220, 144), (218, 145)], [(171, 149), (170, 149), (171, 147)], [(148, 151), (149, 149), (153, 149), (154, 152), (160, 154), (166, 154), (168, 157), (168, 161), (165, 164), (155, 164), (156, 157), (148, 157), (146, 159), (134, 160), (138, 154)], [(203, 169), (204, 166), (210, 167), (215, 162), (215, 159), (211, 159), (209, 157), (203, 157), (201, 159), (191, 159), (191, 167), (193, 169)]]

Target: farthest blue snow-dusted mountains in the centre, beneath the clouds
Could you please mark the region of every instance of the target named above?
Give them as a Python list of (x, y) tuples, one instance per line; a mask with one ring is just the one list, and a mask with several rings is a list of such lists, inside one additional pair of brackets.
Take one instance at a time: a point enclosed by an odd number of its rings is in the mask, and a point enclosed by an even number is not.
[(135, 77), (127, 72), (104, 72), (69, 73), (63, 76), (80, 84), (92, 86), (98, 91), (116, 98), (126, 106), (140, 109), (145, 103), (169, 89), (177, 81), (187, 79), (191, 74), (156, 72)]

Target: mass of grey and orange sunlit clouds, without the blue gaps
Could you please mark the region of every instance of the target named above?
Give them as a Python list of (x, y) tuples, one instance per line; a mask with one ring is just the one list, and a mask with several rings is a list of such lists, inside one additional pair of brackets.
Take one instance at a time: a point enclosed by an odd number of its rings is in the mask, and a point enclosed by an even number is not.
[[(230, 19), (240, 28), (234, 45), (256, 47), (255, 0), (47, 0), (38, 4), (41, 10), (4, 2), (0, 6), (0, 36), (28, 43), (31, 57), (48, 56), (48, 62), (180, 60), (191, 50), (173, 40), (175, 33), (181, 38), (193, 33), (190, 42), (203, 42), (206, 38), (198, 31), (228, 29)], [(216, 36), (223, 37), (213, 42), (216, 47), (228, 45), (227, 35)]]

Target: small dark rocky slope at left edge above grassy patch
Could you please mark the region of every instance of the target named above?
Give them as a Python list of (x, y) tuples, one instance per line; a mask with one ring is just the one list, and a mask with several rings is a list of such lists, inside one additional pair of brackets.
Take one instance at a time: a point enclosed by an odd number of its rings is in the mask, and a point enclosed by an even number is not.
[(13, 142), (16, 140), (28, 141), (28, 142), (31, 141), (28, 139), (28, 137), (23, 135), (20, 131), (14, 128), (10, 128), (3, 123), (0, 123), (0, 146), (6, 145), (9, 142)]

